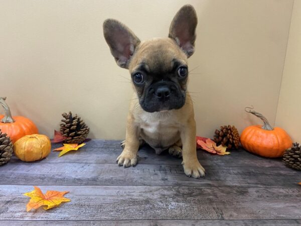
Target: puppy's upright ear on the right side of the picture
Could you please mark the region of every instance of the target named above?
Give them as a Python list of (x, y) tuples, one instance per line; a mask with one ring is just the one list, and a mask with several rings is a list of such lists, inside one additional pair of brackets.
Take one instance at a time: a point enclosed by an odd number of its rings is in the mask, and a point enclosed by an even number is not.
[(187, 57), (194, 53), (197, 24), (195, 9), (191, 5), (185, 5), (178, 11), (170, 27), (169, 37), (177, 42)]

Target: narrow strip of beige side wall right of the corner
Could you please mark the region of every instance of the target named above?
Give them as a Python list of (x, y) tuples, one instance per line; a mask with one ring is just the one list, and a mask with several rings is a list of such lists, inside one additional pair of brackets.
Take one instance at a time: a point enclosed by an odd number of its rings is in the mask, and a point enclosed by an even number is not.
[(301, 142), (301, 1), (293, 4), (275, 126)]

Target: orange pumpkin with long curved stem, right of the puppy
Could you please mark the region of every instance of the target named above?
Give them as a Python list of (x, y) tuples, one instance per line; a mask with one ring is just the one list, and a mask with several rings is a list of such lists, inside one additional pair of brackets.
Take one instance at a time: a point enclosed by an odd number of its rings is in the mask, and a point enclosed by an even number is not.
[(247, 151), (268, 158), (283, 156), (286, 149), (291, 147), (292, 140), (281, 128), (272, 128), (267, 119), (251, 107), (245, 110), (263, 121), (263, 126), (249, 126), (243, 130), (240, 143)]

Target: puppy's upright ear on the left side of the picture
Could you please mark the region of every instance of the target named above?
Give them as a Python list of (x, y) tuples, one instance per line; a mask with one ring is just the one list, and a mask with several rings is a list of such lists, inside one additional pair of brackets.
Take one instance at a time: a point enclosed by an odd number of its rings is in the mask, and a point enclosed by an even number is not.
[(103, 22), (103, 35), (118, 66), (127, 68), (140, 40), (125, 25), (113, 19)]

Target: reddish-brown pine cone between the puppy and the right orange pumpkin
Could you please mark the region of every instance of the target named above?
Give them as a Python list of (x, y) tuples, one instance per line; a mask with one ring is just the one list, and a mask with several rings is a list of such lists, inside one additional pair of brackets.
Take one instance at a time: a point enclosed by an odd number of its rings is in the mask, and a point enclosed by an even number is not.
[(238, 149), (240, 142), (239, 133), (235, 126), (221, 126), (221, 130), (215, 130), (214, 142), (228, 149)]

